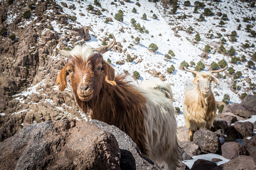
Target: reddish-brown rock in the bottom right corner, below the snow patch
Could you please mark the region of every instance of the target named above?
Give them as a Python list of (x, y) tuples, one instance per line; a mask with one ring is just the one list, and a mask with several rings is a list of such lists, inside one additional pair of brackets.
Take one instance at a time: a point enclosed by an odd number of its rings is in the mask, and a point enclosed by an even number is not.
[(237, 158), (231, 159), (227, 163), (221, 164), (212, 170), (255, 170), (256, 161), (252, 157), (241, 155)]

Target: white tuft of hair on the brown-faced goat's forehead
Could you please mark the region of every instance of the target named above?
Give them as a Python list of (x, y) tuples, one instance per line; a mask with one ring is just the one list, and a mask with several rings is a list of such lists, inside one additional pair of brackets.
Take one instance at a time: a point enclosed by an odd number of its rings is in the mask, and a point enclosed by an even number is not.
[(81, 57), (83, 61), (86, 61), (88, 57), (99, 53), (95, 48), (92, 48), (89, 45), (76, 45), (70, 52), (70, 55), (73, 57)]

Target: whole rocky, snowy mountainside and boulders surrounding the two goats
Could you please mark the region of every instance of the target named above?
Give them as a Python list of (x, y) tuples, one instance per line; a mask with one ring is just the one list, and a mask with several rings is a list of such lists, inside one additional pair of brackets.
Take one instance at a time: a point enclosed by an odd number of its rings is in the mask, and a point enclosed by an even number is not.
[[(117, 42), (103, 57), (117, 73), (131, 73), (135, 85), (158, 77), (173, 89), (180, 152), (187, 165), (180, 163), (180, 169), (252, 169), (256, 159), (253, 2), (0, 0), (0, 141), (4, 141), (0, 143), (3, 151), (0, 158), (4, 160), (0, 167), (6, 169), (11, 162), (16, 169), (35, 166), (90, 169), (110, 154), (109, 162), (104, 162), (106, 169), (167, 168), (143, 158), (136, 144), (119, 129), (95, 120), (86, 123), (90, 116), (78, 108), (69, 77), (63, 92), (56, 86), (65, 58), (55, 53), (55, 47), (71, 50), (86, 42), (96, 48), (111, 41), (109, 33), (113, 33)], [(151, 43), (156, 46), (150, 46)], [(182, 67), (206, 71), (225, 65), (228, 69), (215, 75), (219, 84), (212, 89), (219, 113), (214, 128), (197, 131), (194, 141), (189, 142), (188, 129), (183, 127), (182, 100), (184, 81), (193, 80), (193, 75)], [(219, 86), (223, 82), (228, 88)], [(83, 126), (93, 129), (95, 136), (91, 140), (95, 143), (88, 143), (88, 147), (97, 145), (99, 157), (92, 155), (94, 150), (80, 148), (80, 140), (89, 132), (76, 129)], [(36, 135), (41, 133), (38, 128), (44, 132), (41, 137)], [(29, 136), (25, 135), (28, 130), (31, 130)], [(73, 137), (75, 134), (78, 136)], [(33, 147), (38, 140), (50, 145)], [(72, 142), (80, 145), (66, 148)], [(13, 147), (6, 150), (9, 144)], [(78, 150), (91, 159), (60, 154)], [(35, 157), (27, 154), (29, 151), (40, 153), (38, 157), (50, 154), (36, 162)], [(15, 155), (10, 156), (11, 152)], [(76, 164), (76, 160), (83, 164)]]

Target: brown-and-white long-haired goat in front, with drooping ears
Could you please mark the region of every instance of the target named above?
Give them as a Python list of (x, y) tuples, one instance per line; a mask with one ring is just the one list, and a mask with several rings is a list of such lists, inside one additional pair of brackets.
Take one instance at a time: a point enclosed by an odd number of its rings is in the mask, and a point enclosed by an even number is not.
[[(68, 56), (57, 77), (59, 90), (65, 89), (66, 77), (70, 75), (76, 101), (84, 113), (115, 125), (132, 138), (144, 156), (165, 161), (169, 169), (174, 169), (178, 144), (172, 100), (160, 90), (134, 87), (125, 81), (127, 75), (115, 76), (114, 68), (102, 58), (115, 44), (112, 36), (111, 43), (96, 49), (88, 45), (76, 46), (72, 51), (56, 48), (60, 55)], [(170, 86), (162, 81), (157, 88), (172, 93)]]

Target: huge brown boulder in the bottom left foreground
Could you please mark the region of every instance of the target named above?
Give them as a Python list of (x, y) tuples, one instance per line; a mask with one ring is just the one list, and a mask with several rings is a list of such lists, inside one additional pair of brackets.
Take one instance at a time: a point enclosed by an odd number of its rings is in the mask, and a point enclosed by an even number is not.
[(0, 143), (1, 169), (120, 169), (116, 138), (92, 123), (33, 123)]

